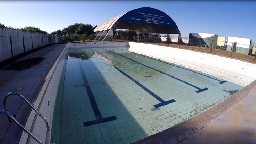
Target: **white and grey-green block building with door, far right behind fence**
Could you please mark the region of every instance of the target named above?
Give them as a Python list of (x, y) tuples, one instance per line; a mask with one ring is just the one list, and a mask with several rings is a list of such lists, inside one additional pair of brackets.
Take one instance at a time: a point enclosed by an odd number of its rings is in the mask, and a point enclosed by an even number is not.
[(232, 52), (252, 55), (252, 40), (249, 38), (228, 37), (226, 50)]

